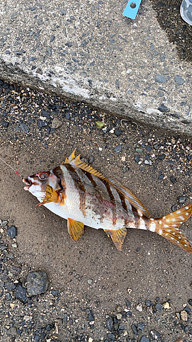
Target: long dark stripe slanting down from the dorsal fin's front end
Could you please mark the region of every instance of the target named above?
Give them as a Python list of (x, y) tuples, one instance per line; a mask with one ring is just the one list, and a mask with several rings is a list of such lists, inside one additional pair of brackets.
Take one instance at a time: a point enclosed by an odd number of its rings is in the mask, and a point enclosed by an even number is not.
[(74, 186), (79, 191), (79, 199), (80, 199), (80, 210), (83, 215), (86, 216), (86, 190), (81, 181), (80, 176), (77, 174), (76, 170), (70, 164), (64, 164), (66, 169), (68, 170), (72, 180), (74, 181)]

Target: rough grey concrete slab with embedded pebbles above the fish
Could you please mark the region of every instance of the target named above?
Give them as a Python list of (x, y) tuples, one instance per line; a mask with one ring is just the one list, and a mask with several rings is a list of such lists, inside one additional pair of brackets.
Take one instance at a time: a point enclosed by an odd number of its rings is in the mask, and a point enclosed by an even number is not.
[[(172, 4), (176, 20), (165, 25)], [(143, 0), (135, 21), (122, 16), (125, 5), (1, 1), (1, 77), (191, 135), (190, 58), (180, 60), (172, 43), (185, 51), (179, 4)]]

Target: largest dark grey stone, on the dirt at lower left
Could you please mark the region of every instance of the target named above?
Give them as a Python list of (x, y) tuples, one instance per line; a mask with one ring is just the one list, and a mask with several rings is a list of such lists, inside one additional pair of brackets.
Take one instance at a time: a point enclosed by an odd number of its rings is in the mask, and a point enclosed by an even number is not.
[(29, 295), (44, 293), (49, 286), (45, 272), (30, 272), (27, 275), (27, 292)]

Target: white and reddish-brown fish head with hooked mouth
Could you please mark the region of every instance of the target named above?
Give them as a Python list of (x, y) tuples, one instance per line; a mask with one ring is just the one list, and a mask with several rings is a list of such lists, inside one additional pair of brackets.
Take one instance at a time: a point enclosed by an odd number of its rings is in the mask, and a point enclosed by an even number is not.
[(24, 189), (31, 192), (38, 199), (45, 196), (47, 185), (53, 187), (55, 191), (61, 189), (60, 178), (52, 170), (28, 176), (23, 179), (23, 183), (25, 183)]

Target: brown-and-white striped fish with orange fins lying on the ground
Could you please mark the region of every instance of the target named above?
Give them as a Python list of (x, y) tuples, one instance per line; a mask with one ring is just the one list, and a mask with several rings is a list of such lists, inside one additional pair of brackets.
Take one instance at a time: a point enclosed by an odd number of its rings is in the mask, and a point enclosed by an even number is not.
[(77, 241), (84, 226), (103, 229), (118, 250), (126, 237), (127, 228), (157, 233), (192, 253), (180, 224), (188, 220), (192, 203), (161, 218), (150, 218), (148, 209), (124, 185), (120, 185), (98, 172), (80, 158), (75, 150), (60, 166), (38, 172), (23, 179), (24, 189), (68, 222), (68, 233)]

